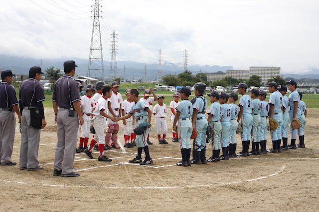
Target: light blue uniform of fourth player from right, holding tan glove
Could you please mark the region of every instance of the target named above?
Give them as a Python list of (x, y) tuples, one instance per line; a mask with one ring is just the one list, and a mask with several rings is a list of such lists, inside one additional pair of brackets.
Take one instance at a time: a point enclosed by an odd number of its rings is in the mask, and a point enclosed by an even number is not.
[(281, 108), (283, 106), (283, 95), (278, 90), (276, 90), (270, 94), (268, 102), (270, 106), (274, 106), (273, 119), (278, 122), (278, 127), (276, 130), (270, 129), (271, 140), (281, 140), (281, 125), (283, 121), (283, 113)]

